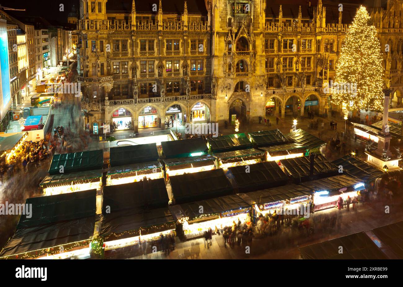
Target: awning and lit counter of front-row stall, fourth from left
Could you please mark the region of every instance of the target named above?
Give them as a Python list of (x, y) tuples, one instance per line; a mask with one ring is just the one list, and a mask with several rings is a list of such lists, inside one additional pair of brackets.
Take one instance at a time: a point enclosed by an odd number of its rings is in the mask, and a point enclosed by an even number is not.
[[(288, 184), (273, 189), (252, 191), (247, 195), (253, 199), (253, 208), (258, 216), (258, 214), (265, 215), (268, 212), (273, 214), (274, 211), (277, 214), (287, 214), (287, 210), (300, 211), (301, 204), (304, 207), (310, 205), (313, 191), (305, 186)], [(309, 209), (306, 210), (309, 211)]]

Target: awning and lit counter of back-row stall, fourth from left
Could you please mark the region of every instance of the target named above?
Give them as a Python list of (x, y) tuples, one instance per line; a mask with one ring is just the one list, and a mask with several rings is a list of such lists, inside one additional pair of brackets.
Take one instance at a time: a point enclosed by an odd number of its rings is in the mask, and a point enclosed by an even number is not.
[(222, 168), (224, 171), (233, 166), (260, 163), (264, 160), (264, 152), (258, 149), (227, 151), (225, 153), (215, 153), (214, 156), (217, 158), (217, 168)]

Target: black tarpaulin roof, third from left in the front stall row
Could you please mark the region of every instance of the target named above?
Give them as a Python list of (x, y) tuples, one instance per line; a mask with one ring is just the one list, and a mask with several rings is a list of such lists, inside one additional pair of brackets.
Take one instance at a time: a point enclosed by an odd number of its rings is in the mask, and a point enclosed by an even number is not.
[(233, 193), (233, 187), (221, 168), (171, 176), (169, 181), (176, 204)]

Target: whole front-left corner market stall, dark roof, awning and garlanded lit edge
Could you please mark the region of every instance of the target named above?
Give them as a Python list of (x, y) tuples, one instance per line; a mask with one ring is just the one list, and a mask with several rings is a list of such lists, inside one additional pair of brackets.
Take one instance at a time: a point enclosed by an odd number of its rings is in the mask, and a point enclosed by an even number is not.
[(96, 223), (96, 190), (28, 198), (0, 259), (89, 258)]

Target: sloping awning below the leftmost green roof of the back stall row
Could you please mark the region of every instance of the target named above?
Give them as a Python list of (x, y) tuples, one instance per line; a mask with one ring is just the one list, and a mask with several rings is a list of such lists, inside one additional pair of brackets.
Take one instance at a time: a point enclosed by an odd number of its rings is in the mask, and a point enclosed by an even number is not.
[(39, 183), (42, 187), (62, 186), (70, 182), (79, 181), (93, 181), (99, 180), (102, 177), (102, 170), (89, 170), (85, 172), (75, 172), (72, 174), (57, 174), (53, 176), (46, 176), (44, 180)]

